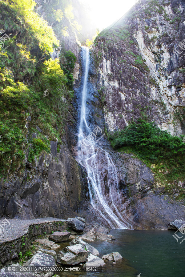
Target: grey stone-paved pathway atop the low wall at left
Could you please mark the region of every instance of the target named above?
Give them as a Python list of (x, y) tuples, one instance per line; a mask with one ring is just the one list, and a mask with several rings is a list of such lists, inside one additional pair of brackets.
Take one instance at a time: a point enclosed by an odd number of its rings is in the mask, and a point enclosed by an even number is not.
[(58, 219), (53, 217), (37, 218), (37, 219), (0, 219), (0, 242), (10, 241), (21, 238), (28, 231), (32, 224), (50, 223), (62, 221), (65, 219)]

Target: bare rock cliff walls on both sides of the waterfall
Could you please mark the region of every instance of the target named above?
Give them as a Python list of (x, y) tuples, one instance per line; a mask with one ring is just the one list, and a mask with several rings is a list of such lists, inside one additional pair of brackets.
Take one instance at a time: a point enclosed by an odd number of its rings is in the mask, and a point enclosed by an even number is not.
[[(183, 51), (178, 44), (185, 33), (184, 7), (183, 1), (143, 1), (123, 21), (96, 38), (90, 51), (87, 88), (87, 123), (91, 130), (98, 125), (106, 134), (142, 117), (173, 135), (184, 134), (184, 58), (183, 53), (178, 54)], [(23, 167), (0, 184), (0, 216), (31, 219), (80, 214), (87, 222), (98, 219), (105, 224), (90, 207), (86, 171), (74, 159), (82, 100), (82, 57), (74, 34), (63, 40), (65, 49), (77, 58), (74, 99), (63, 145), (57, 151), (57, 142), (51, 141), (50, 154), (39, 157), (34, 165), (25, 158)], [(176, 46), (178, 52), (173, 51)], [(52, 53), (52, 58), (58, 57), (60, 49)], [(166, 195), (155, 183), (151, 169), (132, 155), (113, 151), (105, 135), (98, 142), (97, 163), (107, 199), (110, 168), (100, 148), (110, 153), (115, 164), (120, 197), (116, 207), (129, 227), (167, 228), (169, 221), (185, 217), (183, 202), (175, 200), (178, 191), (174, 190), (173, 198)], [(24, 151), (27, 156), (28, 149)]]

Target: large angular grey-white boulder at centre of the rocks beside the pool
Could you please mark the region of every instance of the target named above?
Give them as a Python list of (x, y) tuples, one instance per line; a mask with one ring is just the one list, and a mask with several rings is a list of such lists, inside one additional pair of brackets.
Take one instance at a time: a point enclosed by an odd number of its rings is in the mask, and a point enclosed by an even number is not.
[(67, 246), (58, 253), (58, 262), (62, 264), (78, 264), (86, 261), (89, 253), (82, 244)]

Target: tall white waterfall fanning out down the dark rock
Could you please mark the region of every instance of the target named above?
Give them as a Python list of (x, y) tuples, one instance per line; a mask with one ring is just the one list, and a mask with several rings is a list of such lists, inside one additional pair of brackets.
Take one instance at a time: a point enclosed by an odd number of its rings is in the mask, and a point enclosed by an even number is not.
[[(99, 147), (97, 144), (90, 143), (82, 146), (83, 139), (86, 138), (92, 130), (86, 122), (86, 97), (88, 85), (90, 55), (87, 47), (82, 47), (82, 104), (80, 112), (80, 123), (78, 129), (78, 151), (76, 160), (86, 168), (87, 182), (90, 194), (90, 203), (97, 211), (99, 216), (112, 229), (126, 229), (131, 226), (130, 220), (125, 215), (124, 211), (120, 212), (119, 208), (123, 205), (118, 190), (118, 179), (115, 165), (110, 154)], [(98, 129), (97, 129), (98, 130)], [(99, 130), (101, 130), (99, 128)], [(102, 131), (102, 130), (101, 130)], [(100, 155), (100, 157), (99, 157)], [(101, 167), (99, 160), (103, 157), (103, 164), (107, 165), (107, 172)], [(107, 181), (104, 182), (102, 174), (107, 176)]]

